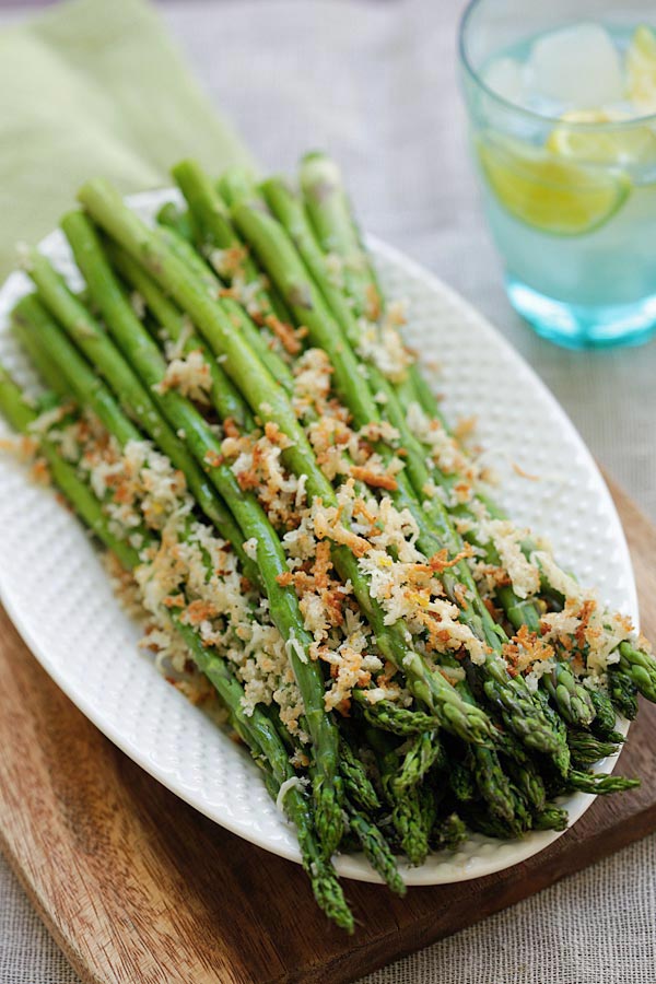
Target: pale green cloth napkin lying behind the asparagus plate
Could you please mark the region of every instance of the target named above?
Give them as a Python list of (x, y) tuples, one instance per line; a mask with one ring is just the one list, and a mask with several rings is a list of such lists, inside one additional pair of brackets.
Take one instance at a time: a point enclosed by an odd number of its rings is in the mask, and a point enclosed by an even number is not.
[(185, 156), (251, 163), (143, 0), (68, 0), (0, 33), (0, 282), (83, 180), (157, 187)]

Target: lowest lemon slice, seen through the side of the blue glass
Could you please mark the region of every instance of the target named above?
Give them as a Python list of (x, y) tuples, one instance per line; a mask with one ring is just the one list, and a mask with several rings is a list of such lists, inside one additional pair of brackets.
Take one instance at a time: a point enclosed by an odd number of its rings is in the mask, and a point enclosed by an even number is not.
[(631, 189), (621, 173), (600, 172), (497, 136), (479, 138), (478, 154), (501, 204), (527, 225), (553, 235), (577, 236), (598, 229)]

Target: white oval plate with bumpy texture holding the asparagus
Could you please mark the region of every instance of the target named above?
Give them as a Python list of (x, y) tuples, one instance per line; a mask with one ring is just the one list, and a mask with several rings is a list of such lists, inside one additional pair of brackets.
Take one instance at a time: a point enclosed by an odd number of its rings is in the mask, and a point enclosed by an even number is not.
[[(134, 196), (144, 218), (171, 190)], [(388, 296), (407, 298), (408, 342), (444, 395), (450, 420), (476, 415), (477, 437), (503, 472), (499, 497), (511, 515), (551, 539), (557, 557), (600, 597), (637, 623), (624, 535), (589, 452), (535, 373), (461, 297), (391, 247), (368, 242)], [(42, 244), (74, 282), (62, 234)], [(8, 315), (28, 289), (22, 273), (0, 291), (0, 360), (34, 385), (9, 332)], [(436, 372), (438, 366), (438, 372)], [(0, 423), (0, 430), (5, 427)], [(522, 478), (513, 460), (539, 481)], [(0, 597), (44, 669), (122, 751), (181, 799), (233, 833), (298, 862), (293, 830), (267, 795), (258, 770), (202, 712), (137, 649), (139, 628), (121, 611), (80, 524), (25, 469), (0, 456)], [(599, 765), (610, 772), (613, 760)], [(563, 801), (574, 823), (594, 797)], [(402, 866), (408, 885), (490, 875), (525, 860), (560, 836), (531, 833), (502, 843), (471, 836), (455, 854), (420, 868)], [(337, 858), (348, 878), (379, 881), (361, 855)]]

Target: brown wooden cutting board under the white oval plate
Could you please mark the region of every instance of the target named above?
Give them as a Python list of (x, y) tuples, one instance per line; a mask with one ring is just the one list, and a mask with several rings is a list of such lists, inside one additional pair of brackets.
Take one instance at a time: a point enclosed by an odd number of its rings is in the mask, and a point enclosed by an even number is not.
[[(642, 623), (656, 637), (656, 528), (619, 490)], [(642, 788), (598, 799), (543, 854), (403, 900), (348, 882), (351, 938), (305, 875), (227, 833), (142, 772), (40, 669), (0, 609), (0, 847), (48, 929), (94, 984), (352, 981), (586, 867), (656, 829), (656, 707), (620, 771)]]

